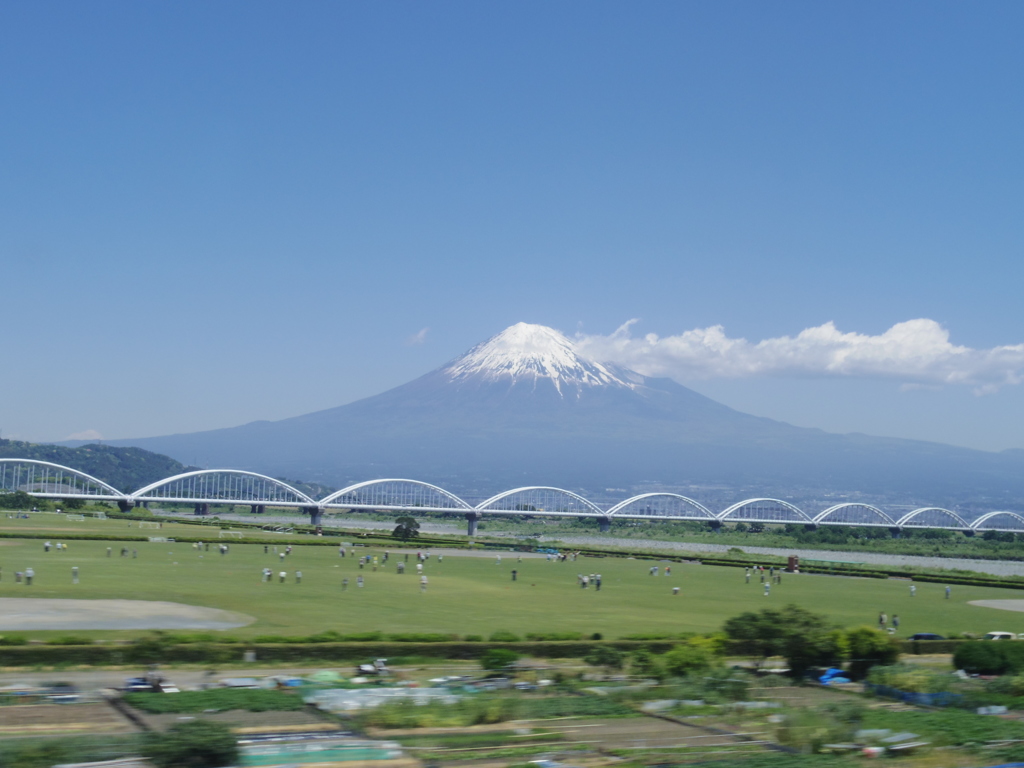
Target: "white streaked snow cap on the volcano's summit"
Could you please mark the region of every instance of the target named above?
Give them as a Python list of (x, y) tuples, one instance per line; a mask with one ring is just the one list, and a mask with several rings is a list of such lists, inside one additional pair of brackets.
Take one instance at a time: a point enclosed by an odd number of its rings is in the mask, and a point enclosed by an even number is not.
[(510, 381), (515, 385), (550, 379), (564, 395), (563, 387), (579, 394), (583, 387), (615, 386), (633, 389), (634, 384), (599, 362), (585, 359), (572, 342), (547, 326), (517, 323), (457, 357), (443, 372), (453, 382), (468, 379)]

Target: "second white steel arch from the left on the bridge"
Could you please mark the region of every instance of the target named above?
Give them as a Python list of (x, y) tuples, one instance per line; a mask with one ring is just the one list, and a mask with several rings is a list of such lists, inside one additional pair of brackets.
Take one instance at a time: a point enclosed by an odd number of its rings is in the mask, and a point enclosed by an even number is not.
[(139, 488), (131, 495), (130, 501), (316, 506), (316, 502), (287, 482), (241, 469), (199, 469), (184, 472)]

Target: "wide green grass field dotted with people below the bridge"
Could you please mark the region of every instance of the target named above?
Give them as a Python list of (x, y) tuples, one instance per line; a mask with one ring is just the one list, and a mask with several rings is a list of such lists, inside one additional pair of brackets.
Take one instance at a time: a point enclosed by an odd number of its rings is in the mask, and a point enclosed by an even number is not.
[[(45, 530), (54, 542), (68, 532), (175, 534), (200, 536), (202, 528), (165, 524), (163, 530), (142, 530), (123, 520), (70, 522), (56, 516), (32, 520), (6, 519), (0, 515), (0, 530)], [(47, 554), (40, 540), (0, 540), (0, 597), (122, 598), (169, 600), (240, 611), (256, 621), (225, 634), (246, 638), (256, 635), (306, 635), (324, 630), (344, 634), (383, 632), (442, 632), (459, 635), (489, 635), (509, 630), (527, 632), (577, 631), (605, 638), (648, 632), (711, 632), (741, 611), (769, 605), (796, 603), (826, 613), (844, 626), (874, 625), (879, 611), (901, 618), (900, 636), (914, 632), (978, 632), (992, 630), (1024, 632), (1024, 613), (969, 605), (978, 599), (1024, 599), (1015, 590), (954, 587), (952, 599), (943, 599), (942, 585), (919, 584), (910, 598), (907, 582), (849, 579), (827, 575), (783, 575), (765, 597), (755, 578), (744, 584), (742, 570), (710, 565), (672, 564), (672, 575), (648, 575), (647, 560), (581, 558), (575, 562), (549, 562), (524, 558), (516, 562), (511, 552), (476, 557), (450, 554), (438, 563), (436, 556), (426, 565), (429, 587), (421, 593), (411, 555), (407, 572), (395, 572), (402, 550), (392, 549), (387, 566), (374, 572), (359, 570), (356, 557), (341, 558), (334, 547), (303, 546), (295, 537), (295, 550), (284, 564), (263, 545), (226, 541), (230, 553), (216, 552), (222, 540), (209, 530), (210, 551), (197, 551), (190, 544), (70, 542), (70, 550)], [(308, 541), (308, 540), (306, 540)], [(114, 556), (106, 557), (106, 547)], [(138, 558), (122, 558), (122, 546), (138, 550)], [(357, 554), (381, 554), (382, 550), (356, 548)], [(72, 585), (71, 568), (78, 565), (81, 584)], [(15, 584), (13, 572), (33, 567), (36, 584)], [(274, 582), (263, 584), (260, 571), (273, 570)], [(664, 572), (664, 563), (660, 563)], [(519, 580), (511, 581), (511, 571)], [(302, 584), (294, 572), (302, 570)], [(288, 582), (279, 584), (276, 573), (288, 571)], [(603, 588), (581, 590), (578, 573), (599, 572)], [(366, 587), (355, 587), (364, 575)], [(349, 579), (343, 592), (342, 580)], [(680, 587), (673, 596), (672, 588)], [(113, 631), (31, 632), (34, 637), (88, 635), (112, 637)], [(127, 633), (131, 635), (140, 632)]]

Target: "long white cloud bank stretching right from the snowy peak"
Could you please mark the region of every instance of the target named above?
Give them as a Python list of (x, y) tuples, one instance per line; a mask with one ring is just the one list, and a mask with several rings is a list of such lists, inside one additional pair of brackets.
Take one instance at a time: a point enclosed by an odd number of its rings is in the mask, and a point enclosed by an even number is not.
[(1024, 344), (972, 349), (949, 342), (932, 319), (897, 323), (883, 334), (843, 333), (833, 323), (797, 336), (751, 342), (722, 326), (677, 336), (634, 337), (631, 319), (610, 336), (578, 335), (582, 354), (647, 376), (674, 379), (752, 376), (848, 376), (895, 379), (910, 386), (962, 384), (978, 394), (1024, 378)]

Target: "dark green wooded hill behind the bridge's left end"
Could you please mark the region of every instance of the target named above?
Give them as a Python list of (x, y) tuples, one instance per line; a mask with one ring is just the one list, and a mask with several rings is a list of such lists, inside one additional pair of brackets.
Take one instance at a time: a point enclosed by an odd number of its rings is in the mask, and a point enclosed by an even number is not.
[(99, 444), (67, 447), (0, 439), (0, 458), (62, 464), (125, 492), (137, 490), (151, 482), (196, 469), (143, 449)]

